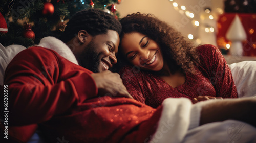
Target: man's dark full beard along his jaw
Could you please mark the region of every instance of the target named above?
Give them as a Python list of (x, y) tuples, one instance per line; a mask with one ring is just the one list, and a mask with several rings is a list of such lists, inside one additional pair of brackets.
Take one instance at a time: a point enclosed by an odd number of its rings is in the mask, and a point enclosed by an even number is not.
[(92, 40), (87, 47), (84, 48), (83, 52), (80, 54), (81, 66), (93, 71), (94, 73), (99, 73), (100, 59), (96, 53), (95, 44)]

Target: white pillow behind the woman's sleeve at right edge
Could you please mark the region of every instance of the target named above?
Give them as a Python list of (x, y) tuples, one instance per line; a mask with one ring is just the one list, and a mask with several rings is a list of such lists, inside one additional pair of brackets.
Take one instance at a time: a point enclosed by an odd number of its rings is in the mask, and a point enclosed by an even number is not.
[(229, 65), (238, 90), (238, 97), (256, 96), (256, 61), (242, 61)]

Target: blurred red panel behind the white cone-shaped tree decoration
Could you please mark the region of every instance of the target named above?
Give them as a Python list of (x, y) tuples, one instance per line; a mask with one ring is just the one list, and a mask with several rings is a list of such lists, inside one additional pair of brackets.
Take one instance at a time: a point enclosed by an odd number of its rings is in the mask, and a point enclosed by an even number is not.
[(243, 56), (256, 56), (256, 14), (255, 13), (224, 13), (218, 19), (217, 44), (226, 47), (231, 43), (226, 39), (226, 33), (236, 14), (246, 32), (247, 39), (243, 41)]

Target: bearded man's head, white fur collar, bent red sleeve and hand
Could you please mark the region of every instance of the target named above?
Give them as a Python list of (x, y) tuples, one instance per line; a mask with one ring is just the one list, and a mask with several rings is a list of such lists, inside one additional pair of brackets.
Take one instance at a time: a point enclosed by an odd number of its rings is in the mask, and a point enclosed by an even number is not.
[(120, 76), (108, 70), (116, 63), (120, 32), (114, 16), (97, 9), (83, 10), (70, 19), (61, 40), (45, 37), (37, 46), (18, 53), (4, 81), (12, 112), (9, 141), (27, 142), (36, 123), (66, 113), (87, 99), (132, 98)]

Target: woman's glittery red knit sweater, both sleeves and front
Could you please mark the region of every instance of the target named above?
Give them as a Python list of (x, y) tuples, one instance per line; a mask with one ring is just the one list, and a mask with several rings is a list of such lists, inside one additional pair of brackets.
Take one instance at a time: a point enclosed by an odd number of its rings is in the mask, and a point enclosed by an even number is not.
[(237, 98), (231, 71), (221, 52), (214, 45), (197, 47), (200, 64), (196, 74), (186, 74), (185, 83), (173, 88), (162, 78), (136, 67), (123, 67), (119, 74), (134, 99), (154, 108), (169, 97), (185, 97), (190, 100), (198, 96)]

